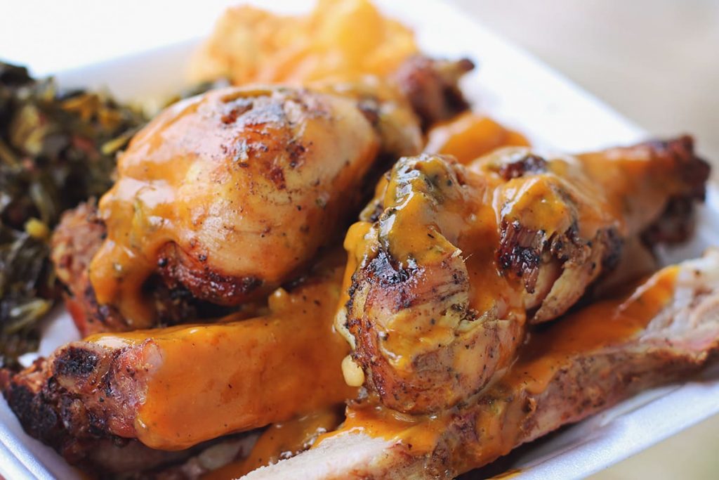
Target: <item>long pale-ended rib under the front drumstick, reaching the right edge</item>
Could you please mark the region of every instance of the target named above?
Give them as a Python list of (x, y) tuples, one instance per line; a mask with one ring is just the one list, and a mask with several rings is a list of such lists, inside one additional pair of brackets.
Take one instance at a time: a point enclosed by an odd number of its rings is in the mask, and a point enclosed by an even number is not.
[(533, 332), (507, 375), (433, 416), (359, 402), (342, 429), (260, 479), (452, 479), (638, 391), (686, 379), (719, 351), (719, 252)]

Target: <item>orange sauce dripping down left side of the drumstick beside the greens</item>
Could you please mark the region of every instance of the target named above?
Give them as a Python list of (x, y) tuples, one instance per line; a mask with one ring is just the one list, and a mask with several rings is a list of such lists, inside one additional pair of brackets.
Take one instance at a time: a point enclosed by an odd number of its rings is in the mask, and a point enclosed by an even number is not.
[[(150, 327), (155, 316), (141, 289), (157, 269), (158, 250), (180, 237), (183, 242), (192, 240), (191, 225), (168, 219), (185, 214), (188, 223), (198, 221), (189, 212), (178, 212), (184, 205), (178, 198), (182, 195), (179, 187), (191, 176), (196, 156), (163, 148), (163, 142), (171, 145), (175, 140), (168, 137), (174, 132), (173, 124), (193, 123), (200, 104), (199, 97), (181, 101), (135, 135), (119, 158), (120, 178), (99, 204), (108, 233), (91, 262), (90, 280), (99, 304), (116, 304), (132, 327)], [(209, 136), (206, 141), (216, 145), (221, 141), (218, 137)]]

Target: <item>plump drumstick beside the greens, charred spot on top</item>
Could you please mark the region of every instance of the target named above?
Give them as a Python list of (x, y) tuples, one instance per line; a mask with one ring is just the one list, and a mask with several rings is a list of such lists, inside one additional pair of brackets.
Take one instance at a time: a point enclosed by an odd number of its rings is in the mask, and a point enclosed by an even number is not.
[(63, 234), (76, 215), (58, 229), (56, 266), (88, 264), (63, 276), (81, 330), (178, 322), (178, 298), (232, 307), (298, 276), (341, 235), (378, 164), (418, 153), (421, 124), (466, 107), (456, 82), (470, 68), (412, 58), (393, 80), (221, 89), (166, 109), (119, 159), (86, 229), (104, 226), (91, 260), (73, 261)]

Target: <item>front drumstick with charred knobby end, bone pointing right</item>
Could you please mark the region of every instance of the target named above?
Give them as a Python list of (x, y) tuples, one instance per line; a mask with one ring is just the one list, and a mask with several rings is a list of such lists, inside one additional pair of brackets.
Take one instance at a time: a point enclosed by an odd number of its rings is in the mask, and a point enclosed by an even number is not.
[(702, 198), (707, 175), (687, 137), (574, 157), (510, 148), (467, 167), (401, 159), (345, 240), (337, 323), (367, 386), (402, 412), (467, 399), (528, 323), (567, 312), (671, 199)]

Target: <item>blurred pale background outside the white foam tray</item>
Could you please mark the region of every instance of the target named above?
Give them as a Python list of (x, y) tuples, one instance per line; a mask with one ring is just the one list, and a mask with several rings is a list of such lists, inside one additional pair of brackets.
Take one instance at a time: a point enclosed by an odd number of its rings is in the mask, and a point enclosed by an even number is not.
[[(719, 0), (446, 1), (652, 134), (692, 133), (719, 166)], [(52, 73), (207, 34), (235, 3), (0, 0), (0, 58)], [(719, 478), (718, 448), (714, 417), (595, 479)]]

